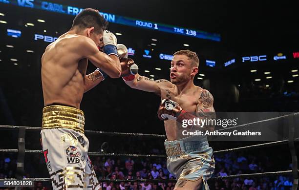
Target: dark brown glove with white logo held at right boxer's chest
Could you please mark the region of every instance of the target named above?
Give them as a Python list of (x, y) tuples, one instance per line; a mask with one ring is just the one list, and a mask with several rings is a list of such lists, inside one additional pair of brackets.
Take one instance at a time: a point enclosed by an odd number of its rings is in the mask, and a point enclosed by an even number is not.
[(159, 109), (158, 117), (160, 120), (176, 120), (177, 116), (181, 113), (182, 107), (174, 101), (164, 99), (162, 100)]

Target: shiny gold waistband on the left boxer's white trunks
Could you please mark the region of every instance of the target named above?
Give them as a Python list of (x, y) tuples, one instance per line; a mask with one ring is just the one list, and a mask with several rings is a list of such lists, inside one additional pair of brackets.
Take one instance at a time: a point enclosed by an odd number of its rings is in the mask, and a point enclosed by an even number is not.
[(70, 128), (84, 133), (84, 113), (82, 110), (61, 105), (45, 106), (43, 108), (44, 128)]

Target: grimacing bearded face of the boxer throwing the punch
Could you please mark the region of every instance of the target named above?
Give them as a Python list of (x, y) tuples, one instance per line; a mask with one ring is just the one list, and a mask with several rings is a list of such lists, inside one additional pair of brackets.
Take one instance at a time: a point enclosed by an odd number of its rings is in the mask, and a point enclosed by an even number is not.
[(175, 55), (171, 61), (171, 83), (182, 84), (192, 79), (194, 66), (186, 55)]

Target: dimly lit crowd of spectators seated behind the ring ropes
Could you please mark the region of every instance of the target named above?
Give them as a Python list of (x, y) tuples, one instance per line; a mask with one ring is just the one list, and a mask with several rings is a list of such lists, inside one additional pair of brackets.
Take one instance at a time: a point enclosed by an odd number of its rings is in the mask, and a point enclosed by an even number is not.
[[(136, 142), (138, 143), (138, 142)], [(161, 154), (164, 150), (151, 149), (151, 153)], [(287, 153), (287, 152), (286, 152)], [(214, 154), (216, 162), (213, 176), (259, 173), (274, 170), (289, 170), (292, 165), (288, 154), (276, 157), (272, 149)], [(166, 167), (166, 159), (91, 156), (98, 178), (105, 179), (175, 179)], [(39, 167), (35, 167), (35, 166)], [(15, 177), (16, 156), (12, 153), (0, 154), (0, 177)], [(26, 177), (46, 177), (48, 173), (42, 155), (35, 154), (25, 159)], [(292, 177), (236, 177), (228, 180), (209, 180), (211, 190), (290, 190)], [(175, 183), (103, 183), (103, 190), (173, 190)], [(50, 190), (49, 183), (37, 182), (35, 189)]]

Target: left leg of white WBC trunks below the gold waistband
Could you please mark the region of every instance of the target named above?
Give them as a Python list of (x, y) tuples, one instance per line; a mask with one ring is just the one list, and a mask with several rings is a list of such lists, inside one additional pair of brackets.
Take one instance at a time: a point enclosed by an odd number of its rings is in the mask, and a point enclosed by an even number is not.
[(53, 189), (83, 189), (84, 144), (80, 133), (72, 129), (53, 128), (41, 132), (43, 152)]

